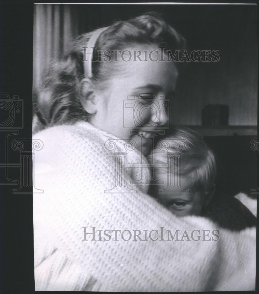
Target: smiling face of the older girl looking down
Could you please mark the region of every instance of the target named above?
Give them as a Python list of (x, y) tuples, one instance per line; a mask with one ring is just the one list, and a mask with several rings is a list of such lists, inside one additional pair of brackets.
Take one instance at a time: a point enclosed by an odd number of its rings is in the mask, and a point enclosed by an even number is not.
[(135, 140), (137, 148), (147, 155), (152, 131), (168, 127), (169, 104), (178, 71), (173, 62), (168, 61), (118, 62), (123, 74), (112, 75), (107, 88), (96, 91), (98, 103), (90, 123), (118, 138)]

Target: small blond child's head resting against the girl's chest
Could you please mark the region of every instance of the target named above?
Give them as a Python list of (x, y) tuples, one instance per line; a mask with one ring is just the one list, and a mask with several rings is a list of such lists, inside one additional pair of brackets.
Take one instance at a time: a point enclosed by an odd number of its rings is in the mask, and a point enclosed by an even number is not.
[[(170, 146), (167, 152), (164, 146)], [(178, 216), (200, 215), (213, 197), (216, 176), (215, 157), (203, 139), (187, 128), (175, 129), (149, 158), (163, 163), (153, 168), (153, 179), (161, 182), (151, 185), (151, 194)]]

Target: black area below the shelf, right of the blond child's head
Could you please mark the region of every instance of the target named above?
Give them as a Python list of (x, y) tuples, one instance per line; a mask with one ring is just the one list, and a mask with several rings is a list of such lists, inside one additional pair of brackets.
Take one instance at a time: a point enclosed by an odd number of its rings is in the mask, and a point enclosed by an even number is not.
[(207, 145), (217, 161), (216, 191), (234, 196), (239, 192), (252, 198), (250, 190), (258, 188), (258, 154), (250, 148), (254, 136), (208, 136)]

